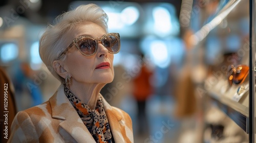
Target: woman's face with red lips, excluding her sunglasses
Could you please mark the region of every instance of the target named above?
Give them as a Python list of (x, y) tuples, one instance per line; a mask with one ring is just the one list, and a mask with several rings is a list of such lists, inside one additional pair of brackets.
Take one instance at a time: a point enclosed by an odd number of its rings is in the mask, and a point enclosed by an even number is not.
[[(75, 27), (70, 34), (70, 39), (81, 35), (99, 38), (106, 34), (105, 30), (93, 22), (84, 22)], [(98, 49), (92, 56), (82, 55), (75, 45), (66, 54), (65, 69), (72, 77), (72, 83), (110, 83), (114, 78), (114, 55), (98, 43)], [(100, 65), (104, 66), (100, 66)], [(105, 66), (106, 65), (106, 66)]]

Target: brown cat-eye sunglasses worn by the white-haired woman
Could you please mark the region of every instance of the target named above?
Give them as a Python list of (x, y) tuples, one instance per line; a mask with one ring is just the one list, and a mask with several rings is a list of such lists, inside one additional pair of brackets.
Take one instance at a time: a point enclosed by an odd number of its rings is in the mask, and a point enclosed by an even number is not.
[(90, 36), (79, 36), (73, 39), (73, 42), (67, 47), (65, 51), (59, 54), (57, 59), (65, 55), (69, 49), (75, 44), (76, 48), (84, 56), (92, 56), (98, 49), (98, 42), (100, 42), (108, 52), (116, 54), (120, 51), (120, 35), (119, 33), (108, 33), (101, 38), (92, 38)]

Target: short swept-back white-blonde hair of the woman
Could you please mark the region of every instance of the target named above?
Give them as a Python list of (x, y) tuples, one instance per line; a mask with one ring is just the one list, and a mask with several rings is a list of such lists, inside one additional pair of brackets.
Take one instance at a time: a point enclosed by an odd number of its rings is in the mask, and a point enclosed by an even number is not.
[[(79, 23), (86, 21), (94, 22), (108, 32), (108, 15), (97, 5), (89, 4), (81, 5), (56, 17), (53, 25), (49, 24), (40, 38), (39, 54), (42, 62), (61, 83), (65, 83), (65, 79), (56, 73), (53, 61), (57, 60), (58, 55), (70, 44), (68, 43), (70, 39), (67, 39), (68, 33)], [(61, 60), (64, 60), (65, 57), (63, 56)]]

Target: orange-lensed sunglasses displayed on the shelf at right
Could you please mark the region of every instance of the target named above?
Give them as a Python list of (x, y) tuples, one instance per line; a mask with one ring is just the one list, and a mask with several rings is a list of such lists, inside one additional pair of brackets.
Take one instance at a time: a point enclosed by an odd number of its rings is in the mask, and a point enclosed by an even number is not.
[(228, 78), (228, 83), (231, 86), (232, 83), (240, 84), (243, 83), (249, 74), (249, 66), (240, 64), (238, 66), (230, 65), (228, 67), (226, 76)]

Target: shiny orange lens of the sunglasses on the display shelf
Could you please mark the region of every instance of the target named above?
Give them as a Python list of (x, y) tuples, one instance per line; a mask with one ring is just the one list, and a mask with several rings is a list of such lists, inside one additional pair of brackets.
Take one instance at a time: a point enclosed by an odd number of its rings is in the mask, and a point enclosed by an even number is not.
[(245, 80), (248, 73), (249, 73), (249, 67), (248, 66), (244, 66), (244, 65), (238, 66), (237, 71), (233, 76), (233, 83), (234, 84), (240, 84), (241, 82), (243, 82)]

